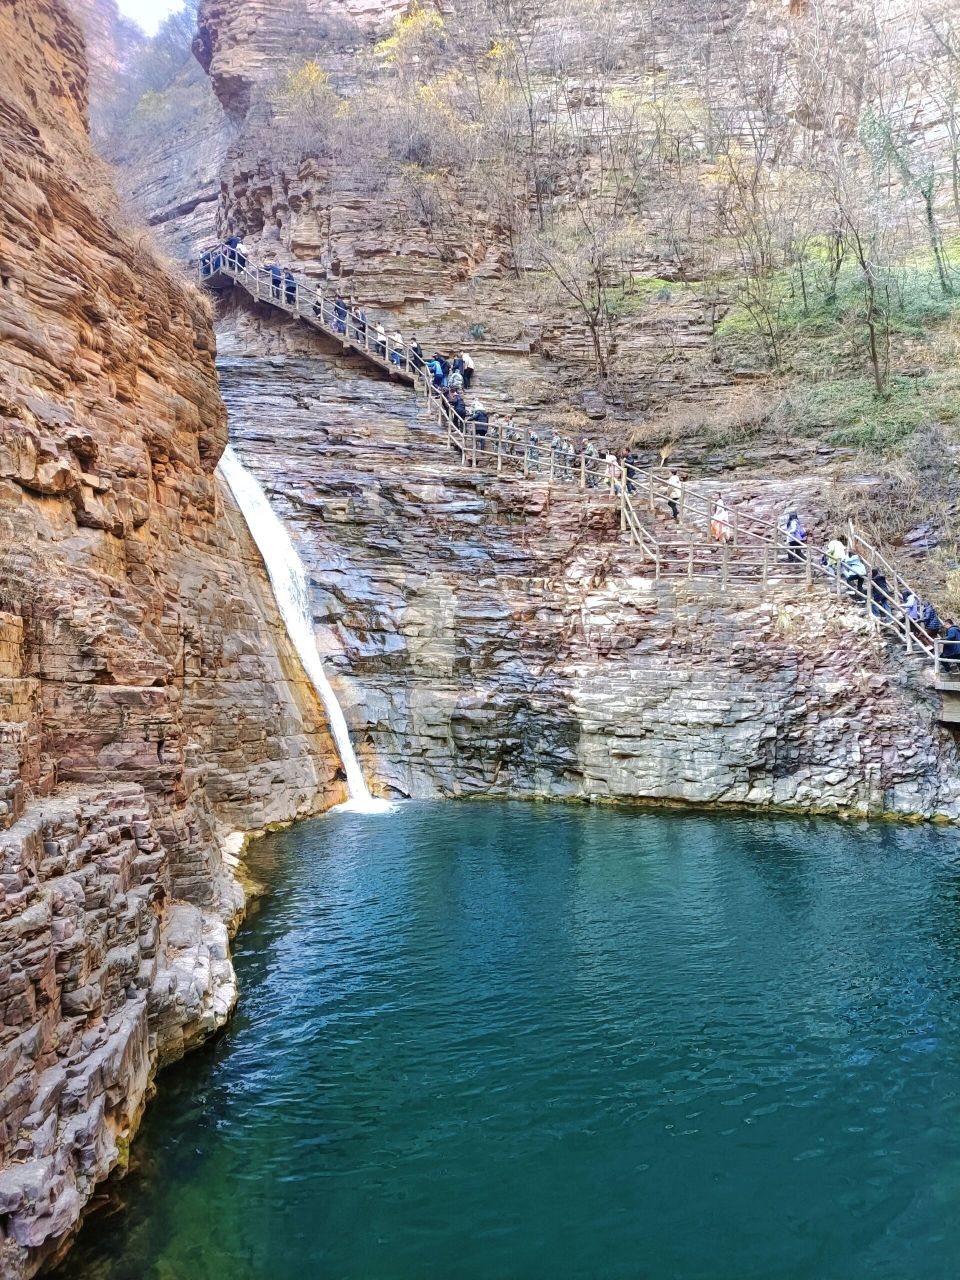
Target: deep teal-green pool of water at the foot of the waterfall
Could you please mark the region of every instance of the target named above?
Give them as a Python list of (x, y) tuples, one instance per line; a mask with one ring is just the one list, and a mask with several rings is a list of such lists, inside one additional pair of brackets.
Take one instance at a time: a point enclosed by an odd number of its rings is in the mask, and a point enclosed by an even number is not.
[(72, 1280), (955, 1280), (956, 833), (416, 805), (270, 837)]

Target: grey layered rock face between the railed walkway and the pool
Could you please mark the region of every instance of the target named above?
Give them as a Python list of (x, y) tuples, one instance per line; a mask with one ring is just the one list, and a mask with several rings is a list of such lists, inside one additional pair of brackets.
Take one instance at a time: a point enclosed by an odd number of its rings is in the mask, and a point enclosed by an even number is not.
[[(957, 814), (923, 668), (824, 589), (657, 582), (608, 497), (457, 467), (412, 393), (323, 343), (224, 357), (221, 383), (381, 783)], [(769, 515), (782, 493), (740, 499)]]

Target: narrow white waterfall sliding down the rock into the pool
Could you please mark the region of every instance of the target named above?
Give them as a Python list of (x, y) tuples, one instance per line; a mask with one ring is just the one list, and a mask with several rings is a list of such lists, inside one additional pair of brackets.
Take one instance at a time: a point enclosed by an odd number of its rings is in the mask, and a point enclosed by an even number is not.
[(303, 562), (297, 554), (297, 549), (291, 540), (291, 535), (283, 527), (283, 522), (275, 513), (264, 493), (260, 481), (247, 471), (241, 460), (227, 445), (220, 458), (220, 475), (230, 486), (237, 506), (247, 521), (247, 527), (253, 541), (260, 548), (264, 558), (270, 585), (274, 589), (276, 607), (280, 611), (287, 634), (293, 648), (300, 654), (303, 669), (310, 676), (314, 689), (320, 695), (320, 700), (326, 710), (330, 722), (337, 750), (347, 773), (347, 792), (349, 800), (340, 808), (349, 808), (361, 813), (374, 813), (392, 808), (387, 800), (375, 800), (367, 788), (366, 780), (360, 768), (353, 744), (349, 740), (349, 730), (343, 717), (340, 704), (337, 701), (330, 681), (326, 678), (320, 653), (316, 648), (314, 635), (314, 621), (310, 614), (310, 594), (307, 591), (307, 575)]

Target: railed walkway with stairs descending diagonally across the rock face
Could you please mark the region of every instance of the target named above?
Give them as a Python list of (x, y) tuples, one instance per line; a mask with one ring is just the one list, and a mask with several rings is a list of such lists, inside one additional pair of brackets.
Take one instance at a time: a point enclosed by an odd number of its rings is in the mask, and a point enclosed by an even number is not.
[[(416, 388), (424, 396), (430, 416), (435, 417), (439, 430), (445, 435), (448, 448), (460, 454), (462, 466), (548, 486), (576, 485), (581, 490), (616, 500), (621, 531), (639, 549), (644, 562), (652, 564), (657, 579), (708, 577), (721, 586), (785, 581), (803, 584), (806, 590), (814, 584), (828, 586), (837, 596), (847, 594), (860, 599), (876, 630), (901, 643), (908, 653), (933, 662), (940, 671), (941, 643), (932, 639), (904, 605), (904, 593), (911, 590), (910, 585), (852, 524), (849, 527), (849, 550), (860, 556), (867, 566), (864, 593), (842, 581), (840, 572), (827, 563), (823, 548), (810, 544), (791, 548), (776, 521), (753, 516), (736, 507), (730, 512), (728, 541), (714, 540), (713, 502), (687, 484), (681, 485), (676, 499), (677, 524), (695, 534), (699, 541), (662, 539), (641, 521), (637, 506), (645, 503), (653, 512), (658, 504), (666, 506), (673, 497), (672, 483), (664, 468), (627, 467), (621, 462), (612, 467), (605, 458), (584, 453), (571, 460), (564, 453), (558, 453), (549, 440), (540, 439), (530, 428), (520, 430), (494, 422), (481, 433), (477, 424), (465, 420), (454, 411), (440, 388), (434, 385), (431, 371), (422, 360), (413, 357), (408, 346), (393, 342), (385, 326), (384, 335), (379, 339), (376, 324), (369, 317), (361, 320), (339, 296), (332, 300), (321, 285), (311, 285), (288, 274), (282, 274), (278, 279), (269, 269), (256, 266), (247, 255), (224, 243), (204, 250), (197, 270), (201, 285), (215, 285), (224, 278), (229, 279), (257, 302), (296, 316), (334, 338), (344, 349), (364, 356), (390, 378)], [(870, 582), (874, 568), (884, 575), (888, 591), (882, 591)]]

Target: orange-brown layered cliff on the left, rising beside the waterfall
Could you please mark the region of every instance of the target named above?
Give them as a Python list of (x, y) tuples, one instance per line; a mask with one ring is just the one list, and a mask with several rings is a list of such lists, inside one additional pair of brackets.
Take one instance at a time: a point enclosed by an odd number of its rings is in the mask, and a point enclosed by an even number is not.
[[(0, 8), (0, 1274), (233, 998), (236, 831), (343, 794), (215, 466), (206, 303), (125, 228), (81, 31)], [(234, 849), (236, 852), (236, 849)]]

